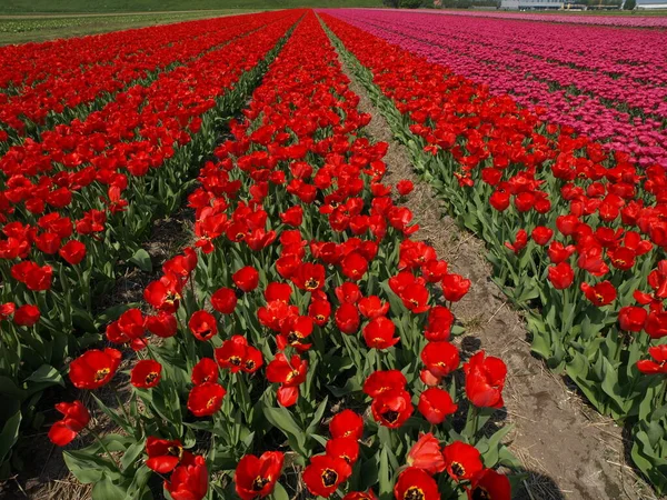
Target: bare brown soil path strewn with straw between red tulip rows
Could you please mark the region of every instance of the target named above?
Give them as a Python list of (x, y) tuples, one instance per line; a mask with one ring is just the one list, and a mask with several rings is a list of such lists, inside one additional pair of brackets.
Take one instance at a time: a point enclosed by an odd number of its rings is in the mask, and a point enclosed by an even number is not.
[(361, 98), (360, 110), (372, 116), (367, 132), (389, 143), (385, 183), (396, 184), (401, 179), (415, 183), (404, 204), (420, 226), (418, 237), (431, 244), (452, 271), (472, 281), (470, 292), (452, 308), (466, 327), (461, 350), (469, 356), (484, 349), (507, 363), (506, 408), (497, 424), (514, 424), (509, 449), (528, 474), (514, 498), (655, 499), (626, 461), (628, 443), (621, 429), (586, 406), (561, 378), (530, 356), (524, 321), (491, 281), (484, 242), (444, 217), (447, 210), (414, 172), (408, 150), (394, 140), (389, 124), (350, 68), (344, 63), (344, 69), (352, 80), (350, 90)]

